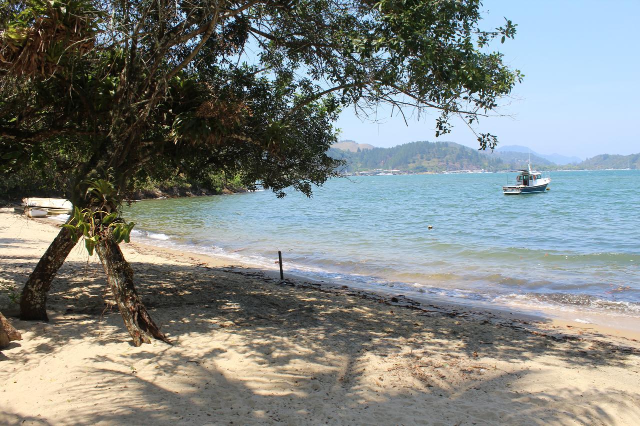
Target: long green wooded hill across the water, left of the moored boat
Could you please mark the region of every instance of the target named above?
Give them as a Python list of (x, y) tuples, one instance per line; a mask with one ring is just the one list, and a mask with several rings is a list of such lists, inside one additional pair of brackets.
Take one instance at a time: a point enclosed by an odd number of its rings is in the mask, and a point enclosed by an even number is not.
[(415, 173), (481, 169), (497, 171), (511, 167), (497, 156), (486, 155), (484, 152), (453, 142), (417, 141), (392, 148), (361, 149), (360, 152), (333, 147), (329, 150), (329, 155), (346, 160), (348, 166), (345, 172), (376, 168)]

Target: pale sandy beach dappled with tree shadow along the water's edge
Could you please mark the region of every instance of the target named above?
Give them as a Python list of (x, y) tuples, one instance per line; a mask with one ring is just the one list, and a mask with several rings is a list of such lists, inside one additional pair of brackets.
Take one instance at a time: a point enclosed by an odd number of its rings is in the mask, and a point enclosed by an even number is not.
[[(0, 291), (20, 291), (57, 233), (0, 213)], [(51, 321), (9, 317), (23, 340), (0, 352), (0, 424), (640, 424), (632, 331), (122, 249), (173, 346), (129, 343), (99, 260), (78, 245)]]

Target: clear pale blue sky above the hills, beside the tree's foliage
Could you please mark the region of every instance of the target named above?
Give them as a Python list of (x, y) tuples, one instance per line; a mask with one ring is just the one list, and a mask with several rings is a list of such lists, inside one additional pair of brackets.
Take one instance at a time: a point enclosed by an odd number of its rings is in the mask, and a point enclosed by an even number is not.
[[(500, 145), (525, 145), (541, 154), (581, 158), (640, 152), (640, 0), (485, 0), (482, 27), (518, 24), (515, 40), (496, 43), (504, 60), (525, 74), (501, 112), (485, 118), (480, 130)], [(432, 113), (419, 122), (379, 114), (380, 123), (362, 122), (346, 110), (340, 139), (374, 146), (418, 140), (454, 141), (477, 147), (464, 123), (435, 138)]]

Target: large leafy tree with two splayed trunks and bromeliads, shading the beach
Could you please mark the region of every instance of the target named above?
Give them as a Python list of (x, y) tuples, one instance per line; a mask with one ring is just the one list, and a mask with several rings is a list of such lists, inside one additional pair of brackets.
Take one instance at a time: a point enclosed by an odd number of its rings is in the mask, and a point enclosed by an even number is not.
[(287, 187), (310, 196), (338, 174), (326, 151), (344, 107), (439, 111), (436, 136), (452, 116), (472, 125), (522, 77), (483, 52), (515, 26), (482, 31), (480, 4), (5, 0), (1, 166), (54, 168), (77, 209), (29, 277), (22, 317), (46, 319), (51, 280), (84, 235), (134, 343), (164, 338), (114, 235), (132, 181), (168, 168), (219, 170), (250, 188), (259, 180), (278, 196)]

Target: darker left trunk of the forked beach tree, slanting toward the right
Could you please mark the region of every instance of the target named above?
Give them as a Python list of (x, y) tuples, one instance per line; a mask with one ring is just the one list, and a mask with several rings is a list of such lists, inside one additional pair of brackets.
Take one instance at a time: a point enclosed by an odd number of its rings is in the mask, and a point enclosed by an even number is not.
[(40, 262), (29, 275), (20, 296), (20, 319), (49, 320), (47, 317), (47, 293), (58, 269), (65, 263), (71, 249), (76, 245), (71, 236), (72, 233), (69, 230), (61, 228), (58, 236), (51, 242), (47, 251), (40, 258)]

